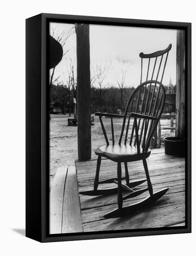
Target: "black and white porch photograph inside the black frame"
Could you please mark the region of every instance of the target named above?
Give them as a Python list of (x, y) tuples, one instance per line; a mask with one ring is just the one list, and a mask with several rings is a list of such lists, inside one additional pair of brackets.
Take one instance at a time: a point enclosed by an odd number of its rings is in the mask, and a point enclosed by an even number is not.
[(49, 234), (187, 226), (185, 43), (49, 23)]

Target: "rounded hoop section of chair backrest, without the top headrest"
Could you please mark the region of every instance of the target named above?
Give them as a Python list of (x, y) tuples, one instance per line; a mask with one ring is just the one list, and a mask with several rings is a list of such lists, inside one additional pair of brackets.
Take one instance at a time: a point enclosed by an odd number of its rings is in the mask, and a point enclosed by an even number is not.
[[(131, 94), (127, 103), (118, 144), (121, 144), (124, 139), (125, 145), (126, 143), (130, 145), (133, 144), (134, 146), (137, 145), (138, 153), (140, 153), (140, 146), (142, 146), (143, 152), (146, 152), (150, 146), (150, 139), (157, 128), (157, 123), (163, 112), (164, 103), (165, 89), (162, 83), (150, 80), (139, 85)], [(130, 126), (131, 117), (134, 116), (132, 113), (147, 116), (145, 118), (141, 118), (139, 115), (134, 117), (134, 122), (132, 126)], [(127, 125), (125, 129), (126, 121)]]

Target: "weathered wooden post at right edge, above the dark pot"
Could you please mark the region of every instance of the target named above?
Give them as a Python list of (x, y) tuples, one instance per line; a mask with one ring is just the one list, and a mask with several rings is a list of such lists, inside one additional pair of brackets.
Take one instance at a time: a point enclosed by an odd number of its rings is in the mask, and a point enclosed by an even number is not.
[(176, 46), (176, 136), (185, 135), (185, 31), (177, 30)]

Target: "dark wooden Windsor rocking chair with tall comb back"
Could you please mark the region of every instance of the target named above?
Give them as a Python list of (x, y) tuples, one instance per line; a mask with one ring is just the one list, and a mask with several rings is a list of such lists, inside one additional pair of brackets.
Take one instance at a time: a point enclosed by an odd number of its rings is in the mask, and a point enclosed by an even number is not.
[[(112, 210), (105, 214), (106, 218), (113, 218), (127, 215), (131, 212), (137, 211), (149, 204), (157, 201), (167, 191), (168, 188), (161, 189), (157, 192), (153, 192), (152, 184), (150, 181), (150, 175), (146, 158), (150, 156), (150, 141), (153, 137), (155, 129), (157, 129), (157, 123), (162, 115), (164, 103), (165, 103), (165, 90), (162, 84), (163, 74), (167, 62), (168, 53), (171, 49), (171, 45), (163, 51), (158, 51), (152, 54), (140, 54), (142, 58), (142, 70), (143, 59), (148, 59), (148, 69), (146, 80), (148, 80), (150, 70), (150, 60), (155, 58), (152, 69), (152, 75), (150, 81), (142, 83), (141, 72), (141, 84), (131, 94), (127, 106), (125, 108), (124, 115), (107, 114), (107, 113), (95, 113), (99, 116), (101, 127), (105, 136), (106, 145), (95, 149), (95, 154), (98, 155), (97, 170), (94, 180), (94, 189), (91, 191), (80, 192), (82, 195), (109, 195), (118, 193), (118, 209)], [(161, 75), (161, 81), (157, 81), (158, 75), (161, 70), (163, 61), (163, 55), (166, 54), (166, 58), (163, 65), (163, 72)], [(157, 59), (160, 56), (160, 62), (157, 68), (156, 80), (153, 80), (153, 75), (156, 70)], [(112, 145), (109, 144), (105, 127), (102, 121), (102, 116), (111, 118), (111, 137)], [(124, 118), (121, 135), (118, 144), (115, 144), (114, 140), (114, 128), (113, 117)], [(132, 127), (131, 119), (133, 119)], [(126, 128), (125, 128), (126, 127)], [(105, 157), (111, 161), (117, 162), (117, 177), (110, 178), (104, 181), (99, 181), (99, 170), (101, 165), (101, 158)], [(128, 172), (128, 162), (143, 161), (146, 179), (140, 179), (130, 182)], [(124, 163), (125, 177), (122, 177), (121, 163)], [(122, 180), (126, 181), (126, 184), (122, 183)], [(147, 181), (147, 187), (144, 189), (136, 188), (138, 185)], [(116, 183), (118, 187), (108, 189), (98, 189), (98, 184), (103, 183)], [(123, 201), (141, 195), (145, 191), (149, 191), (149, 196), (144, 200), (131, 204), (130, 206), (123, 208)], [(123, 192), (130, 192), (130, 194), (123, 197)]]

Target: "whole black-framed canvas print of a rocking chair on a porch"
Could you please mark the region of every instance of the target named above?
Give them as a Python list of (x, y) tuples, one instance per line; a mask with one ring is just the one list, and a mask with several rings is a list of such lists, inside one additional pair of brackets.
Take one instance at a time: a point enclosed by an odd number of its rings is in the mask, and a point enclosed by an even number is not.
[(191, 232), (191, 24), (26, 20), (26, 236)]

